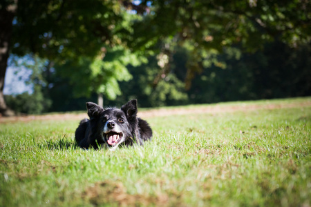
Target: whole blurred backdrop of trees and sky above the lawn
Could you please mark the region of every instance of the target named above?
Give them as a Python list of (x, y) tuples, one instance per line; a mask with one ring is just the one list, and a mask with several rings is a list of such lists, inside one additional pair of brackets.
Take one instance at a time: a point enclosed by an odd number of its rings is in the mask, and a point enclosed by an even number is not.
[(2, 0), (3, 116), (311, 95), (311, 1)]

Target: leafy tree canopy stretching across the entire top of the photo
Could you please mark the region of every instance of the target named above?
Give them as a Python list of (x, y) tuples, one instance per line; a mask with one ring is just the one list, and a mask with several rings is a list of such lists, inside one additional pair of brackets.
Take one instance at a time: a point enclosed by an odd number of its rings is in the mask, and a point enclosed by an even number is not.
[[(192, 80), (206, 68), (226, 68), (219, 55), (229, 48), (243, 53), (273, 41), (294, 49), (310, 44), (310, 8), (303, 0), (5, 0), (0, 3), (0, 77), (9, 52), (32, 54), (46, 61), (42, 71), (48, 83), (53, 73), (66, 79), (77, 97), (103, 93), (115, 99), (120, 81), (132, 78), (129, 65), (153, 59), (157, 64), (148, 73), (153, 75), (147, 88), (178, 95), (173, 91), (180, 81), (191, 90)], [(175, 67), (177, 51), (187, 56), (181, 69)], [(175, 80), (175, 89), (164, 90), (169, 86), (164, 79)], [(0, 86), (2, 113), (1, 79)]]

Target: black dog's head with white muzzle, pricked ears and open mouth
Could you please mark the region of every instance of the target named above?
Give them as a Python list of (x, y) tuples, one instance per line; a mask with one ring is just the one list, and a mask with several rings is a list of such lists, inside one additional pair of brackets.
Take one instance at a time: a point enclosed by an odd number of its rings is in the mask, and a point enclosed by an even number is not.
[(112, 149), (128, 139), (134, 139), (133, 130), (137, 126), (137, 100), (133, 99), (119, 108), (102, 108), (96, 103), (87, 102), (88, 117), (95, 121), (97, 135), (102, 137), (106, 146)]

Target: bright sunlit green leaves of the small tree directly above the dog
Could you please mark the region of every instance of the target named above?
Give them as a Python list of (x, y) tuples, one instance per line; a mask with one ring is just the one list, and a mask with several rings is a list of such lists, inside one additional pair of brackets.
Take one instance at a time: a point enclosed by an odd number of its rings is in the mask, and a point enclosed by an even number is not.
[(115, 99), (121, 95), (118, 81), (132, 78), (126, 66), (138, 66), (147, 61), (122, 46), (103, 50), (103, 54), (95, 59), (79, 57), (77, 61), (58, 63), (54, 67), (57, 76), (68, 78), (75, 97), (90, 97), (95, 92), (108, 99)]

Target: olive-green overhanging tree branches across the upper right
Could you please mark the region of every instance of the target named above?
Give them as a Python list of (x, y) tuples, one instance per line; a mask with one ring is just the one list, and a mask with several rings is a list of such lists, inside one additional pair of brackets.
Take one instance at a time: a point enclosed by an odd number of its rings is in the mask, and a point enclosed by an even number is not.
[(154, 50), (160, 45), (168, 57), (176, 47), (187, 47), (187, 88), (211, 63), (210, 54), (223, 48), (238, 44), (254, 52), (267, 41), (298, 47), (311, 40), (310, 1), (142, 0), (140, 5), (148, 9), (133, 25), (130, 46)]

